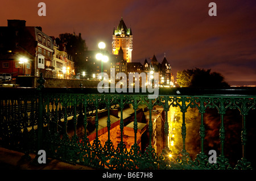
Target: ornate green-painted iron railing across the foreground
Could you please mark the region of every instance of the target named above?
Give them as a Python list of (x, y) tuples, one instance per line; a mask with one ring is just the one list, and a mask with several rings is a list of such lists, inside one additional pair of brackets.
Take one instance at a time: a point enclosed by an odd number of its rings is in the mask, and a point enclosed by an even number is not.
[[(60, 159), (69, 163), (96, 167), (100, 169), (253, 169), (254, 155), (249, 142), (254, 135), (255, 100), (254, 88), (242, 89), (191, 89), (172, 88), (160, 89), (156, 99), (148, 99), (147, 93), (105, 93), (98, 94), (94, 88), (53, 89), (44, 88), (41, 77), (37, 89), (33, 88), (2, 88), (1, 89), (1, 120), (0, 120), (0, 146), (22, 151), (28, 157), (29, 153), (45, 150), (47, 157)], [(133, 108), (131, 119), (125, 118), (125, 108)], [(155, 107), (162, 108), (163, 142), (161, 153), (156, 153), (152, 138), (154, 132), (153, 117)], [(168, 113), (176, 108), (180, 111), (180, 150), (174, 155), (174, 148), (168, 143), (170, 133), (170, 120)], [(197, 129), (200, 151), (192, 159), (186, 149), (188, 143), (186, 117), (189, 109), (197, 109), (199, 115), (199, 128)], [(206, 148), (207, 137), (211, 134), (205, 125), (208, 110), (217, 110), (220, 120), (218, 129), (218, 142), (220, 151), (216, 162), (210, 163)], [(118, 121), (114, 123), (112, 111), (119, 111)], [(147, 139), (140, 137), (141, 124), (138, 120), (139, 111), (148, 112), (146, 123)], [(229, 121), (226, 124), (226, 113), (229, 110), (238, 110), (242, 119), (236, 124), (240, 125), (240, 142), (237, 150), (236, 164), (229, 163), (225, 149), (230, 144), (227, 137)], [(105, 115), (105, 127), (102, 128), (101, 118)], [(253, 116), (251, 116), (251, 114)], [(92, 119), (93, 118), (93, 119)], [(127, 124), (133, 124), (133, 145), (127, 148), (124, 134)], [(112, 136), (113, 125), (120, 133), (118, 138)], [(249, 126), (247, 126), (249, 125)], [(102, 128), (102, 129), (101, 129)], [(90, 131), (88, 131), (91, 129)], [(100, 136), (106, 135), (103, 142)], [(94, 135), (94, 136), (92, 136)], [(140, 140), (141, 139), (141, 140)], [(118, 140), (118, 141), (117, 141)], [(139, 140), (139, 141), (138, 141)], [(146, 141), (145, 141), (146, 140)], [(113, 142), (117, 142), (114, 144)], [(146, 145), (144, 149), (139, 145)], [(169, 145), (169, 147), (168, 147)], [(161, 145), (160, 145), (161, 146)], [(229, 149), (233, 149), (227, 146)], [(172, 157), (171, 157), (172, 154)], [(238, 155), (241, 154), (241, 155)], [(229, 157), (230, 158), (230, 157)], [(231, 158), (234, 159), (234, 158)]]

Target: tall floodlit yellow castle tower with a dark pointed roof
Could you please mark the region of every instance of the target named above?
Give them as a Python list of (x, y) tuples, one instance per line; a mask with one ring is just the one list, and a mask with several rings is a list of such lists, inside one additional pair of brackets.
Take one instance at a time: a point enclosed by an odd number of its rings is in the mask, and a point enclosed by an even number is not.
[(131, 28), (127, 28), (123, 17), (121, 18), (117, 29), (114, 28), (112, 41), (112, 53), (118, 54), (120, 47), (123, 50), (123, 59), (131, 62), (131, 51), (133, 50), (133, 33)]

